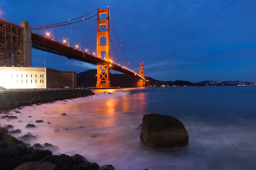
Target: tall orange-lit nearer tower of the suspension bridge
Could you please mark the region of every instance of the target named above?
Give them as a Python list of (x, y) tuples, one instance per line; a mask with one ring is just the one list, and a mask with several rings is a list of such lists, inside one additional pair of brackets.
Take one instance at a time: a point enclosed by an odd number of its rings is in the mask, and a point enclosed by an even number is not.
[[(105, 15), (102, 15), (105, 14)], [(110, 88), (110, 67), (111, 59), (109, 55), (109, 13), (107, 9), (98, 8), (97, 16), (97, 57), (105, 58), (108, 62), (104, 65), (97, 65), (96, 88)], [(101, 27), (102, 26), (102, 27)], [(101, 29), (100, 29), (101, 28)], [(101, 42), (101, 37), (106, 37), (105, 42)], [(102, 40), (103, 41), (103, 40)]]

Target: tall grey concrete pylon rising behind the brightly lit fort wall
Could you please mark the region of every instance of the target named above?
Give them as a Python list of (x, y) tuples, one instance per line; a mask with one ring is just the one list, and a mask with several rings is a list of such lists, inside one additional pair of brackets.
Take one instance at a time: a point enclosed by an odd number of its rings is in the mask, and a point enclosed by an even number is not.
[(23, 67), (32, 67), (31, 27), (27, 21), (23, 21), (21, 27), (23, 28)]

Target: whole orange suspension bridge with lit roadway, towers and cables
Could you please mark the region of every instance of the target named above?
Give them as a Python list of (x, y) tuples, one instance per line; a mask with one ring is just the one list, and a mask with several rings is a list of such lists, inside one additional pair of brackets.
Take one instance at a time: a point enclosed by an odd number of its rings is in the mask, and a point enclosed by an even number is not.
[(132, 70), (108, 8), (32, 28), (26, 21), (17, 26), (0, 20), (0, 66), (32, 65), (27, 61), (31, 48), (97, 65), (98, 88), (111, 87), (110, 69), (145, 81), (144, 62), (140, 63), (139, 73)]

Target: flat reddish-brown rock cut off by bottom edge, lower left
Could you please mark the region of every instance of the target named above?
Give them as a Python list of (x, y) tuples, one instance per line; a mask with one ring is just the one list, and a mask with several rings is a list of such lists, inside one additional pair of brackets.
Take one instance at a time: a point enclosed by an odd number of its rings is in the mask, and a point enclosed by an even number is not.
[(33, 161), (20, 164), (14, 170), (61, 170), (57, 166), (51, 162)]

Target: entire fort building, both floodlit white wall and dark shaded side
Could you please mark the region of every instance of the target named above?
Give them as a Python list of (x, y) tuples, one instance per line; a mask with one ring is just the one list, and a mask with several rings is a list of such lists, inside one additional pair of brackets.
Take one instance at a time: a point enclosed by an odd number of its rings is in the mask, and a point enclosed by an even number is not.
[(64, 88), (76, 87), (76, 72), (51, 68), (0, 67), (3, 88)]

